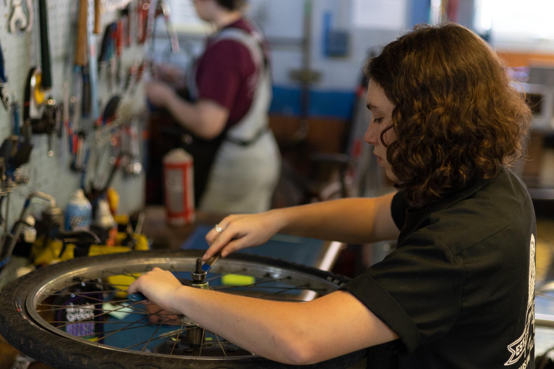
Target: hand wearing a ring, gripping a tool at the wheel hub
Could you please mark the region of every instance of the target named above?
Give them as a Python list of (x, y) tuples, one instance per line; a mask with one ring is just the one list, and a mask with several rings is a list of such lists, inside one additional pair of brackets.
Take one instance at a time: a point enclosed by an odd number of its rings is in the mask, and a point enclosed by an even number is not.
[(223, 230), (221, 233), (213, 228), (206, 235), (210, 247), (202, 257), (204, 260), (219, 251), (225, 257), (243, 248), (260, 246), (283, 229), (285, 220), (278, 210), (271, 210), (260, 214), (230, 215), (218, 226)]

